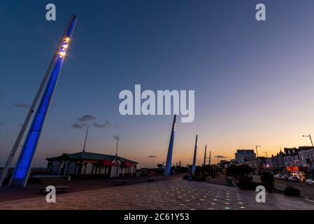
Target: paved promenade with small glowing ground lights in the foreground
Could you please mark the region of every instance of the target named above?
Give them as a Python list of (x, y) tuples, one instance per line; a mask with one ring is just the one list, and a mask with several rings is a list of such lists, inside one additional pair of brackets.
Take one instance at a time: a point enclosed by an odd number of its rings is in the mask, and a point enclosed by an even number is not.
[(313, 202), (300, 197), (266, 193), (266, 203), (257, 203), (255, 195), (250, 190), (171, 179), (57, 194), (57, 202), (51, 204), (45, 195), (0, 202), (0, 209), (314, 209)]

